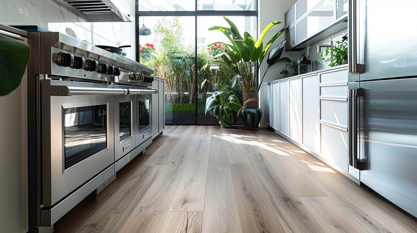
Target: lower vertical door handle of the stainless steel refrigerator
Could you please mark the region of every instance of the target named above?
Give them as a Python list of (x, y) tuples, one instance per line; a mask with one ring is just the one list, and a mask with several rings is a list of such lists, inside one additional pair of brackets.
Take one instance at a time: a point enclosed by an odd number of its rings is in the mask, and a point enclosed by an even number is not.
[(358, 98), (364, 97), (364, 91), (361, 87), (349, 89), (348, 105), (349, 105), (349, 117), (348, 117), (348, 154), (349, 154), (349, 165), (363, 171), (367, 169), (367, 162), (361, 161), (358, 156), (358, 141), (360, 135), (360, 124), (358, 114)]

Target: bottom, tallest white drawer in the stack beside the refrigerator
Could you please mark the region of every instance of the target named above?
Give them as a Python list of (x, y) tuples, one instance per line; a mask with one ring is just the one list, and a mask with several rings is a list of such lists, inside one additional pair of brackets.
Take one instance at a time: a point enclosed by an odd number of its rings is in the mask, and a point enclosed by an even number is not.
[(347, 130), (337, 129), (327, 124), (320, 124), (322, 130), (322, 157), (332, 161), (347, 171), (348, 168), (348, 134)]

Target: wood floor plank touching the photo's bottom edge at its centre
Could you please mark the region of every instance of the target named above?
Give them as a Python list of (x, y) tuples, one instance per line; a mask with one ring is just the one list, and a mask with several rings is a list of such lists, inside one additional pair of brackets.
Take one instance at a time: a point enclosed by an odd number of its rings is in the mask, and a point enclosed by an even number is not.
[(230, 169), (208, 169), (203, 233), (242, 233)]

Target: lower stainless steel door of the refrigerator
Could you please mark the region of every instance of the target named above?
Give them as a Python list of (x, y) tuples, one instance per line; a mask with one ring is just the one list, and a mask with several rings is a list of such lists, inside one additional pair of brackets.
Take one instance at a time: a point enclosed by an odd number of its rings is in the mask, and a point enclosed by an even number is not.
[(417, 216), (417, 78), (360, 85), (360, 180)]

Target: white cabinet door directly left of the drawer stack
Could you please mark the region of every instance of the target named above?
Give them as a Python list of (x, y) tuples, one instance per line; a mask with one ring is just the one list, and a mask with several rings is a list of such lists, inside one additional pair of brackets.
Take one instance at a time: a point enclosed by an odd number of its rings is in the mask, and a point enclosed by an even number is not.
[(303, 144), (320, 154), (320, 101), (319, 75), (302, 78), (303, 81)]

